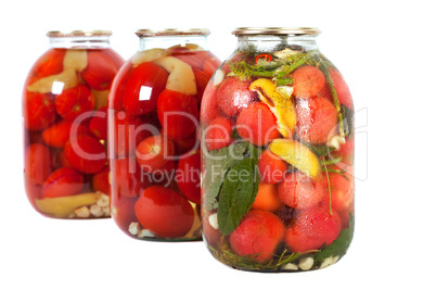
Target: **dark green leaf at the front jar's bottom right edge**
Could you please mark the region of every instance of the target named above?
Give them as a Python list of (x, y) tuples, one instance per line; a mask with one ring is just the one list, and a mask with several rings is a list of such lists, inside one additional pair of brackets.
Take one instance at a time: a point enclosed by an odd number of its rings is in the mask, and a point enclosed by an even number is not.
[(349, 227), (341, 231), (339, 237), (330, 245), (322, 249), (320, 252), (315, 254), (315, 260), (317, 262), (322, 262), (330, 256), (342, 256), (347, 252), (347, 249), (352, 240), (352, 235), (355, 231), (355, 218), (352, 215), (349, 216)]

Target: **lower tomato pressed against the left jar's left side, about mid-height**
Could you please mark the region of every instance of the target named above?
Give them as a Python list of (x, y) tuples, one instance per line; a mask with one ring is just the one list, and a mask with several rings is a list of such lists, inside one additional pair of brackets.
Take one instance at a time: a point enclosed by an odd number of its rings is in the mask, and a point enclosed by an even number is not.
[(52, 169), (50, 150), (40, 143), (30, 144), (25, 152), (24, 176), (34, 185), (40, 186)]

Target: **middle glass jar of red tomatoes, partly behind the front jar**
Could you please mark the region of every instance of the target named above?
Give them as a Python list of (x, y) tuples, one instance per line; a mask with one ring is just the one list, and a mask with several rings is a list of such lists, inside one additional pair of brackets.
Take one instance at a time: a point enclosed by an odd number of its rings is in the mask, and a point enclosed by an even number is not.
[(198, 112), (220, 62), (207, 29), (141, 29), (110, 93), (113, 219), (143, 240), (200, 240)]

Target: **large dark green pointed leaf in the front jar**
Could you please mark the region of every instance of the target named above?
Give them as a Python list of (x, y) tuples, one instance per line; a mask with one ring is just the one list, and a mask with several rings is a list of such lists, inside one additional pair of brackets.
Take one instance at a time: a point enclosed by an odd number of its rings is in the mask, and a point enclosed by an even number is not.
[(253, 160), (247, 157), (227, 174), (219, 194), (218, 226), (222, 236), (232, 232), (252, 207), (254, 198)]

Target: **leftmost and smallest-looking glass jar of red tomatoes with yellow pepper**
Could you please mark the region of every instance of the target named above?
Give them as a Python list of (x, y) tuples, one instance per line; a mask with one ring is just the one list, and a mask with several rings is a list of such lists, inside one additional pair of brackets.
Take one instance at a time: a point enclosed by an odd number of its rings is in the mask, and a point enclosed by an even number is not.
[(107, 97), (123, 59), (111, 31), (49, 31), (23, 92), (24, 181), (57, 218), (108, 217)]

